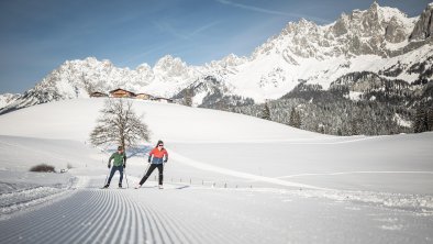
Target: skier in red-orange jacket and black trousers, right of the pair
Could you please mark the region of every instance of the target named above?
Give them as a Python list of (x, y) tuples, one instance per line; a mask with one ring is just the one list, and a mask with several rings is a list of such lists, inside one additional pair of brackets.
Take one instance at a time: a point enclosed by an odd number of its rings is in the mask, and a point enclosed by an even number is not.
[(158, 141), (155, 148), (153, 148), (148, 154), (147, 163), (149, 163), (151, 166), (148, 167), (146, 175), (143, 176), (142, 180), (140, 180), (140, 184), (138, 186), (135, 187), (135, 189), (138, 189), (147, 180), (147, 178), (155, 170), (155, 168), (158, 168), (159, 189), (163, 189), (164, 163), (167, 163), (167, 160), (168, 160), (168, 152), (166, 148), (164, 148), (163, 141)]

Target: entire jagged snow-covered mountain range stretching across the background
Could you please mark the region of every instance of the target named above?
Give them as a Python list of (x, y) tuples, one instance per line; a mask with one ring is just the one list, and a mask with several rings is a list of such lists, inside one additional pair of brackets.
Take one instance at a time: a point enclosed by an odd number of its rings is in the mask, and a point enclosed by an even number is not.
[[(53, 100), (86, 98), (90, 92), (108, 92), (115, 88), (160, 97), (181, 97), (191, 90), (195, 104), (224, 96), (252, 98), (255, 102), (278, 99), (300, 81), (319, 84), (323, 89), (351, 73), (401, 68), (396, 77), (384, 78), (422, 82), (432, 78), (432, 29), (429, 25), (433, 8), (429, 5), (417, 18), (408, 18), (398, 9), (374, 2), (368, 10), (343, 13), (327, 25), (308, 20), (290, 22), (276, 36), (257, 47), (249, 57), (229, 55), (203, 66), (188, 66), (169, 55), (154, 67), (147, 64), (136, 69), (118, 68), (109, 60), (89, 57), (68, 60), (53, 70), (33, 89), (18, 98), (7, 112)], [(414, 70), (414, 65), (424, 67)], [(212, 79), (207, 79), (212, 77)], [(219, 89), (197, 86), (218, 81)], [(212, 84), (210, 84), (212, 85)], [(420, 88), (422, 89), (422, 88)], [(230, 102), (230, 101), (229, 101)]]

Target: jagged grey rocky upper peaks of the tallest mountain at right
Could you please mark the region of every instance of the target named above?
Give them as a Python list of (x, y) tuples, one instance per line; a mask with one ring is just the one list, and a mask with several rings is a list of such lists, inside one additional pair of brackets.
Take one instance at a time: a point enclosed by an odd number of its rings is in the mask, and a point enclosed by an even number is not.
[(388, 43), (407, 41), (413, 21), (400, 10), (380, 7), (376, 1), (367, 10), (342, 13), (334, 23), (321, 26), (306, 19), (290, 22), (279, 35), (256, 48), (253, 59), (262, 55), (284, 55), (289, 64), (296, 56), (319, 60), (335, 56), (388, 56)]

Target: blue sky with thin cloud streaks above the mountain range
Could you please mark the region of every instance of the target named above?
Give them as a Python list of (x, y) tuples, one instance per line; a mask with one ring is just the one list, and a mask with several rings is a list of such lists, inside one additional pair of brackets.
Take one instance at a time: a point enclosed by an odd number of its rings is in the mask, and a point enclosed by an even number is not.
[[(419, 15), (431, 0), (379, 0)], [(67, 59), (153, 66), (170, 54), (203, 65), (248, 56), (290, 21), (319, 24), (368, 0), (1, 0), (0, 93), (34, 87)]]

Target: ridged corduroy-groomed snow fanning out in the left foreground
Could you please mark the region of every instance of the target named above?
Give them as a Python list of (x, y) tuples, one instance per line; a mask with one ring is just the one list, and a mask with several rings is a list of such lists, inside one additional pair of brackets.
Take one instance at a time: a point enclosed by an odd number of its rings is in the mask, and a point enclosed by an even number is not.
[(163, 213), (155, 202), (132, 196), (136, 192), (78, 189), (49, 206), (0, 221), (0, 243), (220, 243), (223, 237), (238, 242), (209, 224)]

